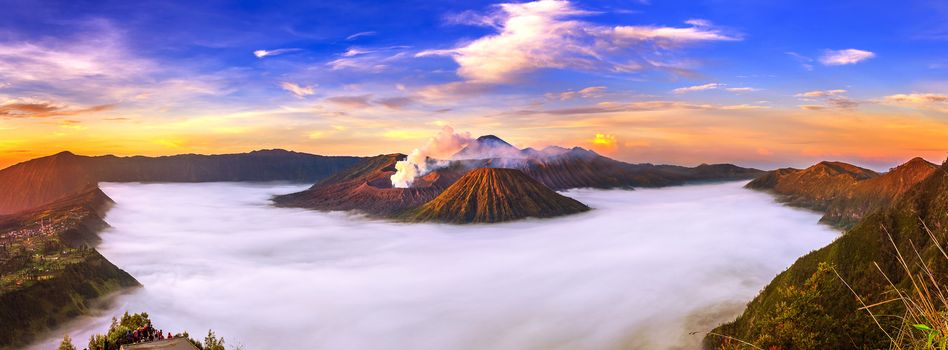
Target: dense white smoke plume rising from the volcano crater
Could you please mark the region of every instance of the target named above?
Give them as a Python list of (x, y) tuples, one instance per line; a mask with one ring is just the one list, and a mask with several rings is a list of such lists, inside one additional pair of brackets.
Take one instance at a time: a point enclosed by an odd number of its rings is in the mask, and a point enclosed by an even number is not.
[(454, 128), (445, 125), (438, 135), (428, 139), (424, 146), (409, 153), (407, 159), (395, 163), (392, 186), (411, 187), (415, 178), (445, 166), (447, 162), (444, 159), (450, 158), (471, 141), (470, 133), (455, 133)]

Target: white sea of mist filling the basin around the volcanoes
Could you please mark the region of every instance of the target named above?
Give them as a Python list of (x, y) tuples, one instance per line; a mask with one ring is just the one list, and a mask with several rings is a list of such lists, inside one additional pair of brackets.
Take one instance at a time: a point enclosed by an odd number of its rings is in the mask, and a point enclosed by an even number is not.
[(125, 310), (245, 349), (697, 348), (838, 235), (743, 184), (573, 190), (594, 210), (469, 226), (270, 206), (298, 185), (103, 184), (99, 249), (144, 288), (37, 348)]

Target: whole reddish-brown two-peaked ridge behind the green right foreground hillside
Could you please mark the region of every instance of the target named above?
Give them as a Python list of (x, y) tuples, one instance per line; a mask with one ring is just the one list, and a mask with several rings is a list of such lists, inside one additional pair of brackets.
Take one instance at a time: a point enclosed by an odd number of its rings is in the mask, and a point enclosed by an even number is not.
[(892, 203), (937, 168), (922, 158), (882, 174), (841, 162), (821, 162), (803, 170), (767, 172), (747, 187), (773, 191), (790, 205), (823, 211), (821, 222), (849, 228)]

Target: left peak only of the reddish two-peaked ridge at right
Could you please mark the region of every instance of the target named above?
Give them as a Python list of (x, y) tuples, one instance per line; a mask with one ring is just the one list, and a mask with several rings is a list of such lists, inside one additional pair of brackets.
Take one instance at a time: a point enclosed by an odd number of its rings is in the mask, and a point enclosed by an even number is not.
[(790, 205), (826, 210), (829, 202), (849, 191), (857, 182), (879, 176), (875, 171), (842, 162), (820, 162), (809, 168), (767, 172), (747, 188), (770, 190)]

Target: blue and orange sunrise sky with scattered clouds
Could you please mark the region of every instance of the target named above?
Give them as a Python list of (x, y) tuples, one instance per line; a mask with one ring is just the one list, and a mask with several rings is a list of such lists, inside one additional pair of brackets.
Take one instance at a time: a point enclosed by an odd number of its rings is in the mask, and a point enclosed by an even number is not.
[(944, 1), (0, 0), (0, 167), (70, 150), (948, 156)]

